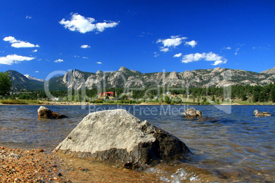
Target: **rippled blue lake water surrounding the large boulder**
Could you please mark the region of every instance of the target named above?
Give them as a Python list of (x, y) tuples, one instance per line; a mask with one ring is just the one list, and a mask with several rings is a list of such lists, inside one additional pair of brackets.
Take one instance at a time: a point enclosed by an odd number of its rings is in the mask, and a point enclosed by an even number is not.
[[(180, 112), (194, 107), (202, 117)], [(39, 106), (0, 105), (0, 145), (51, 152), (89, 112), (126, 109), (183, 141), (194, 156), (186, 163), (145, 171), (165, 182), (275, 182), (274, 106), (66, 106), (49, 109), (68, 118), (38, 119)], [(90, 108), (90, 109), (89, 109)], [(271, 117), (255, 117), (254, 109)]]

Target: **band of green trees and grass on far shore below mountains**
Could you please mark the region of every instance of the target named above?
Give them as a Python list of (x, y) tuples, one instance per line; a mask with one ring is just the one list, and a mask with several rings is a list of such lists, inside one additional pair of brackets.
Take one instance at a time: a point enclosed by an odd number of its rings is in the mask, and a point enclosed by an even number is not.
[(0, 96), (0, 104), (222, 104), (274, 105), (275, 83), (265, 86), (148, 87), (14, 91)]

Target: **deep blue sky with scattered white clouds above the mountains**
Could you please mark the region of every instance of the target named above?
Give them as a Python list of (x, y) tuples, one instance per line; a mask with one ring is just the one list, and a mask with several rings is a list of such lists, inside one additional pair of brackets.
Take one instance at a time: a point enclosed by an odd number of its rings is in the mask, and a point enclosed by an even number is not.
[(0, 71), (275, 66), (275, 1), (1, 1)]

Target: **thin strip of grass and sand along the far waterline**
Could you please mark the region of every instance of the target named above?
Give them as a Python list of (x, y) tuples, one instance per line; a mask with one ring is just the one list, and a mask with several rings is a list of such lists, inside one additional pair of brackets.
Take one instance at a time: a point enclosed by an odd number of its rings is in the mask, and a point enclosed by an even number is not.
[(132, 101), (121, 101), (121, 100), (97, 100), (96, 102), (72, 102), (72, 101), (41, 101), (41, 100), (18, 100), (18, 99), (2, 99), (0, 104), (10, 104), (10, 105), (275, 105), (275, 102), (244, 102), (244, 101), (234, 101), (234, 102), (192, 102), (192, 101), (182, 101), (180, 103), (167, 103), (167, 102), (154, 102), (154, 101), (145, 101), (145, 102), (132, 102)]

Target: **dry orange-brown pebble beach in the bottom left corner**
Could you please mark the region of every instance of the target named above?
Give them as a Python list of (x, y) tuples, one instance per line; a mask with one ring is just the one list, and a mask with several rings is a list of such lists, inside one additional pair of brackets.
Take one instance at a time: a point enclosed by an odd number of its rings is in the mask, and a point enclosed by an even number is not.
[(0, 182), (70, 182), (60, 159), (44, 150), (0, 146)]

